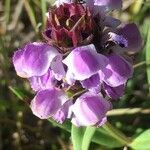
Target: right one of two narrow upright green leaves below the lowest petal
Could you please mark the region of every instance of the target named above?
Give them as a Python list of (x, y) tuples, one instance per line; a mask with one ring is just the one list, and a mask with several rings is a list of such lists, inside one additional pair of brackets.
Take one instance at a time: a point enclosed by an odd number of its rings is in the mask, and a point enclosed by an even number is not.
[(88, 150), (96, 127), (87, 127), (82, 140), (82, 150)]

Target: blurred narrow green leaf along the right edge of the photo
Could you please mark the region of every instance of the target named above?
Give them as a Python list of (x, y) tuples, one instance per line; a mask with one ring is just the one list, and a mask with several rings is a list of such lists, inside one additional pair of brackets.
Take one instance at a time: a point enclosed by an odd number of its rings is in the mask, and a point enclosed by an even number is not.
[[(147, 64), (147, 80), (148, 84), (150, 85), (150, 26), (148, 29), (147, 34), (147, 42), (146, 42), (146, 64)], [(149, 92), (150, 92), (150, 86), (149, 86)]]

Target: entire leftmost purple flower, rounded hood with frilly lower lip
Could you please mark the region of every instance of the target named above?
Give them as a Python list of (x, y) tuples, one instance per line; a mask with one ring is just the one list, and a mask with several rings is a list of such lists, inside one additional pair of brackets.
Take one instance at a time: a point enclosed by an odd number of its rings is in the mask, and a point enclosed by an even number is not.
[(17, 74), (29, 78), (35, 91), (55, 85), (55, 79), (61, 80), (65, 75), (62, 55), (45, 43), (27, 44), (14, 53), (13, 63)]

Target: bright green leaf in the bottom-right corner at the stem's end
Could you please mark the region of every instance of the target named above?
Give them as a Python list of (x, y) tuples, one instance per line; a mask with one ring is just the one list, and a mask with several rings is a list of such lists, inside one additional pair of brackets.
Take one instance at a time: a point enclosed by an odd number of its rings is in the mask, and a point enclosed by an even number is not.
[(149, 150), (150, 149), (150, 129), (140, 134), (130, 146), (135, 150)]

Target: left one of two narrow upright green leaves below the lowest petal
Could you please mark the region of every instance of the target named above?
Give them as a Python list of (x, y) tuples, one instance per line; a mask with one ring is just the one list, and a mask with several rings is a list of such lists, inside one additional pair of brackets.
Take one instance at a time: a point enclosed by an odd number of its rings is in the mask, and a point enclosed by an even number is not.
[(82, 146), (82, 139), (84, 136), (85, 128), (83, 127), (76, 127), (72, 124), (71, 128), (71, 139), (73, 143), (74, 150), (81, 150)]

